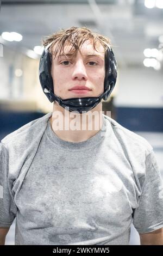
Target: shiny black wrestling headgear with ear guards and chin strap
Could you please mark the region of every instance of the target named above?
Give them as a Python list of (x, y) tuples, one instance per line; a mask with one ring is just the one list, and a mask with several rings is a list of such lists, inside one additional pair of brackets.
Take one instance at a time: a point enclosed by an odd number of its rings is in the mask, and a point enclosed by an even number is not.
[(57, 101), (61, 107), (68, 109), (70, 112), (77, 111), (82, 113), (95, 108), (102, 99), (108, 99), (115, 87), (117, 78), (117, 62), (112, 49), (108, 47), (105, 53), (104, 92), (98, 97), (73, 97), (63, 100), (54, 94), (53, 79), (51, 76), (52, 63), (48, 52), (48, 48), (52, 43), (53, 42), (47, 45), (43, 50), (39, 64), (39, 78), (41, 87), (49, 101)]

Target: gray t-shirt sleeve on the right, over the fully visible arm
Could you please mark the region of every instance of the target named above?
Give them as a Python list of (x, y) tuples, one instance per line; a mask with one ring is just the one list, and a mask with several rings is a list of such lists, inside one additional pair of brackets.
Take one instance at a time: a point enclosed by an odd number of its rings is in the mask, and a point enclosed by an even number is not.
[(146, 157), (145, 166), (145, 182), (139, 207), (133, 214), (133, 224), (140, 234), (163, 227), (163, 185), (153, 150)]

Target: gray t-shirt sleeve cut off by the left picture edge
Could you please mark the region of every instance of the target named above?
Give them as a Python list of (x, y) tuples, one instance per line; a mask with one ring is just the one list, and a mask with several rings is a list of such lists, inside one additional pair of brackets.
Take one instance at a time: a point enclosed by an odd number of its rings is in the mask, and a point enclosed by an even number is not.
[(16, 205), (11, 196), (8, 179), (9, 154), (0, 143), (0, 227), (10, 227), (16, 216)]

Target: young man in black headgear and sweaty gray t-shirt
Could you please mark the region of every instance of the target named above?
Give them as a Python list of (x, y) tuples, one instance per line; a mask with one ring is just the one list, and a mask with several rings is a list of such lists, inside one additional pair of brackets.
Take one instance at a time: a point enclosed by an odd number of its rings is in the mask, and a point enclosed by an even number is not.
[(71, 27), (49, 36), (40, 82), (53, 113), (1, 142), (0, 237), (16, 245), (163, 245), (163, 189), (151, 145), (102, 114), (116, 83), (109, 39)]

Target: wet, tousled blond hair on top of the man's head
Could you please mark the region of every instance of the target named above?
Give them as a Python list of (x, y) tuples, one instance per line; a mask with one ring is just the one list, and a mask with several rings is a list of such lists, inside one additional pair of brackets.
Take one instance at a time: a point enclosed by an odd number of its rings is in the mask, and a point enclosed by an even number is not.
[[(51, 42), (52, 45), (49, 46), (49, 53), (56, 57), (59, 52), (59, 56), (61, 52), (64, 53), (64, 46), (71, 45), (70, 52), (80, 51), (80, 47), (84, 44), (85, 41), (92, 40), (93, 48), (97, 51), (96, 45), (100, 43), (106, 52), (106, 49), (111, 46), (110, 39), (104, 35), (98, 34), (96, 32), (91, 31), (91, 29), (86, 27), (70, 27), (67, 29), (61, 29), (57, 33), (47, 36), (46, 39), (43, 39), (43, 46), (47, 46)], [(55, 51), (53, 52), (53, 46), (56, 44)]]

